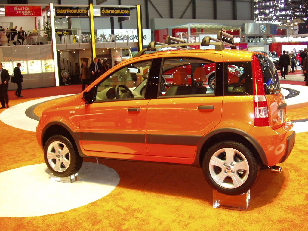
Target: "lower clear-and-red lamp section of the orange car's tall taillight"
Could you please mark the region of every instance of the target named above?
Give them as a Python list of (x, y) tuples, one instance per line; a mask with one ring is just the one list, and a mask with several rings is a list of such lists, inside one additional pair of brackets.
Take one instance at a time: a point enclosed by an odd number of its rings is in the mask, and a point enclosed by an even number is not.
[(253, 99), (254, 126), (270, 126), (265, 95), (255, 95)]

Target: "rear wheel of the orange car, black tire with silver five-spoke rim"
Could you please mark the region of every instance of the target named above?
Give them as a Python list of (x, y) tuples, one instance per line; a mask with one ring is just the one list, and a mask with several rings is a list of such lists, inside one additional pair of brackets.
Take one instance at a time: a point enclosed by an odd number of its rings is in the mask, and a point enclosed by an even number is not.
[[(226, 152), (232, 153), (233, 150), (234, 156), (231, 159), (232, 155), (229, 155), (228, 159)], [(213, 189), (228, 195), (238, 195), (246, 193), (257, 182), (261, 164), (247, 146), (227, 140), (209, 148), (205, 153), (202, 168), (206, 181)]]

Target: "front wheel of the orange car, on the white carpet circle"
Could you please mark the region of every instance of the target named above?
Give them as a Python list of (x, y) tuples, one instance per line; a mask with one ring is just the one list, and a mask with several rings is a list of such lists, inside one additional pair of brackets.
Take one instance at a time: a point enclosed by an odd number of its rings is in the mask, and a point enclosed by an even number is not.
[(44, 146), (44, 160), (47, 168), (55, 176), (60, 177), (71, 176), (77, 173), (83, 162), (83, 158), (79, 156), (77, 148), (69, 139), (62, 135), (54, 135), (47, 140)]

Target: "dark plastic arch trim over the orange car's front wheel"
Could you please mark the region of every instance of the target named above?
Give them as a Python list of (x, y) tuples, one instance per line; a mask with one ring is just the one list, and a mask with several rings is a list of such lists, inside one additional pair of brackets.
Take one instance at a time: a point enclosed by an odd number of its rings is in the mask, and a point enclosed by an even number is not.
[(62, 135), (71, 140), (78, 150), (81, 157), (85, 157), (79, 145), (79, 133), (73, 132), (66, 124), (59, 121), (54, 121), (45, 126), (42, 132), (42, 146), (44, 147), (47, 140), (53, 135)]

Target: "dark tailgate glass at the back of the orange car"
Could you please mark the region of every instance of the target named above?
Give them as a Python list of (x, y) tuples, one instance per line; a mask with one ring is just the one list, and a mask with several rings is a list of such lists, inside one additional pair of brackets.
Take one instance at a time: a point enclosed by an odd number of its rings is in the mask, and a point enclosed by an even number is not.
[(259, 59), (263, 73), (265, 94), (269, 95), (271, 94), (270, 90), (280, 89), (278, 73), (276, 71), (274, 63), (268, 57), (259, 54), (256, 55), (256, 57)]

